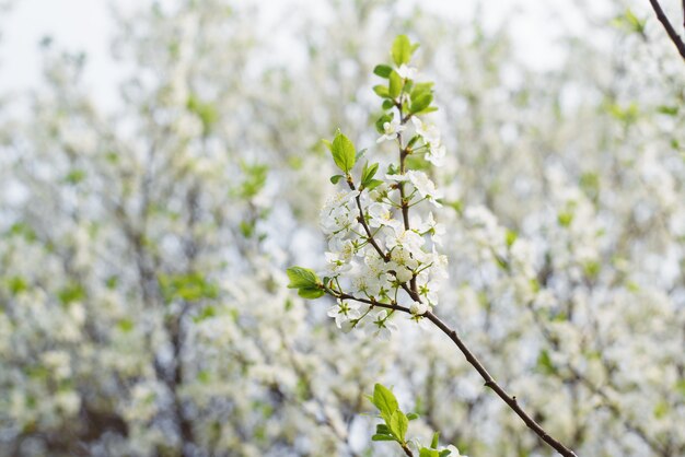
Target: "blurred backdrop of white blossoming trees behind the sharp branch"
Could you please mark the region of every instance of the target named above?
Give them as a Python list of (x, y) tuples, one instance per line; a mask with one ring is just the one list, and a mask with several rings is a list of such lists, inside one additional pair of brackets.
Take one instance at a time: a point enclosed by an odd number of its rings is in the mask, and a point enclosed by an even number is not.
[(376, 382), (423, 442), (553, 455), (444, 336), (286, 289), (324, 265), (320, 140), (390, 160), (400, 33), (449, 151), (437, 313), (579, 455), (685, 455), (685, 66), (647, 1), (0, 11), (0, 456), (395, 455)]

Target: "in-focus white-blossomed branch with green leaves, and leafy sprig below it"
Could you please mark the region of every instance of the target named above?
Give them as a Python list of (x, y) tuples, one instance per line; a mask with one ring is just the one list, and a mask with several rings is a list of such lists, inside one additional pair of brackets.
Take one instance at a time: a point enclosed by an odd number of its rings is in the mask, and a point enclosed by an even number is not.
[[(436, 126), (426, 125), (421, 116), (437, 108), (432, 83), (416, 82), (417, 69), (408, 67), (414, 49), (405, 35), (399, 35), (392, 49), (395, 68), (381, 65), (374, 73), (387, 79), (387, 85), (376, 85), (374, 91), (383, 98), (385, 113), (376, 121), (381, 137), (378, 142), (391, 141), (397, 145), (398, 159), (387, 167), (385, 179), (375, 179), (379, 163), (367, 164), (360, 178), (352, 177), (358, 157), (352, 142), (338, 132), (327, 143), (333, 160), (344, 175), (335, 175), (332, 183), (345, 180), (349, 191), (336, 194), (322, 210), (321, 226), (328, 236), (329, 251), (326, 253), (325, 277), (309, 269), (292, 267), (288, 270), (289, 288), (297, 289), (300, 296), (317, 298), (328, 293), (337, 305), (328, 312), (344, 331), (364, 327), (371, 335), (387, 338), (397, 327), (392, 323), (395, 313), (406, 313), (413, 320), (430, 320), (442, 330), (462, 351), (485, 380), (507, 405), (523, 419), (542, 440), (565, 456), (574, 456), (561, 443), (553, 438), (527, 413), (521, 409), (516, 398), (509, 396), (492, 378), (484, 365), (466, 347), (456, 331), (444, 324), (436, 314), (440, 283), (446, 279), (446, 257), (438, 251), (440, 235), (444, 226), (438, 224), (432, 212), (426, 219), (409, 219), (410, 209), (422, 202), (440, 208), (442, 195), (422, 171), (409, 169), (407, 160), (418, 159), (417, 167), (426, 163), (440, 165), (445, 148)], [(396, 117), (395, 117), (396, 116)], [(407, 125), (411, 121), (413, 132), (403, 140)], [(365, 191), (365, 192), (364, 192)], [(413, 228), (414, 227), (414, 228)], [(402, 303), (409, 303), (402, 304)], [(380, 308), (381, 310), (376, 310)], [(378, 390), (378, 387), (376, 387)], [(381, 390), (382, 391), (382, 390)], [(387, 394), (385, 394), (387, 395)], [(374, 400), (381, 395), (374, 394)], [(405, 441), (406, 421), (395, 424), (391, 409), (383, 410), (384, 401), (376, 400), (381, 408), (390, 436), (395, 438), (407, 455), (413, 455)], [(402, 412), (398, 413), (402, 418)], [(433, 446), (434, 447), (434, 446)], [(428, 452), (421, 447), (421, 454)], [(449, 454), (449, 453), (448, 453)]]

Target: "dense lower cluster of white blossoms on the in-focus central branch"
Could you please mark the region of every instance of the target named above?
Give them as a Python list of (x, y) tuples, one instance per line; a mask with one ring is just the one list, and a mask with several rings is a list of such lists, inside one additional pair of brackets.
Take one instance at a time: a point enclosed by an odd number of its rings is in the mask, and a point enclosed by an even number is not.
[[(438, 304), (440, 282), (446, 278), (446, 256), (438, 251), (444, 227), (432, 212), (413, 215), (405, 225), (399, 186), (404, 186), (405, 206), (428, 201), (440, 207), (442, 197), (423, 172), (388, 174), (384, 184), (371, 191), (339, 191), (321, 211), (321, 227), (328, 237), (326, 269), (322, 276), (330, 284), (371, 303), (410, 303), (413, 318)], [(407, 290), (415, 284), (420, 301)], [(402, 300), (400, 300), (402, 297)], [(338, 328), (350, 331), (370, 316), (369, 304), (348, 300), (328, 310)], [(373, 313), (365, 325), (370, 333), (388, 337), (395, 326), (386, 309)], [(372, 323), (372, 324), (371, 324)]]

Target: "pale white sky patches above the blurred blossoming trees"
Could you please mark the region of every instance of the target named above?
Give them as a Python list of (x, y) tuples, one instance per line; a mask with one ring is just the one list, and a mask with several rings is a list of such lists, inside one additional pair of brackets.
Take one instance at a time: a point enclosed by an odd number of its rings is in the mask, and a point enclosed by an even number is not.
[[(0, 0), (1, 2), (2, 0)], [(245, 1), (245, 0), (242, 0)], [(255, 0), (256, 1), (256, 0)], [(313, 0), (262, 0), (264, 20), (274, 22), (287, 8), (311, 7)], [(9, 13), (0, 12), (0, 93), (19, 93), (40, 82), (38, 44), (50, 36), (60, 47), (84, 51), (88, 56), (86, 81), (95, 101), (106, 107), (116, 106), (117, 82), (121, 69), (109, 56), (109, 39), (115, 32), (111, 4), (130, 10), (147, 3), (137, 0), (14, 0)], [(409, 5), (413, 0), (399, 0)], [(512, 9), (514, 39), (521, 57), (534, 67), (555, 65), (554, 38), (564, 28), (577, 30), (582, 23), (574, 2), (568, 0), (497, 0), (484, 1), (484, 16), (494, 23), (507, 21)], [(595, 3), (596, 4), (596, 3)], [(471, 14), (476, 1), (422, 0), (421, 5), (455, 16)], [(582, 7), (581, 7), (582, 8)], [(554, 19), (554, 20), (552, 20)]]

